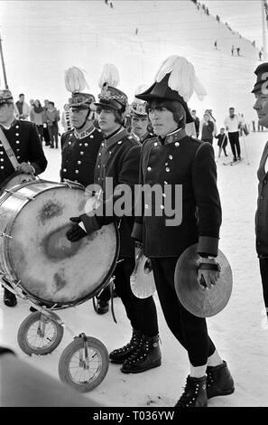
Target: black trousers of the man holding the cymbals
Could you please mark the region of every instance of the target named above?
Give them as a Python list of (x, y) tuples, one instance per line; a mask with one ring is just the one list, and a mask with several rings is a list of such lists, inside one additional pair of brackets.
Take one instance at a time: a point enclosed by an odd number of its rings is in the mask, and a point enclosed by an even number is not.
[(152, 260), (152, 270), (162, 311), (171, 332), (188, 351), (193, 366), (207, 364), (215, 345), (208, 336), (206, 319), (193, 316), (180, 304), (174, 286), (178, 258)]

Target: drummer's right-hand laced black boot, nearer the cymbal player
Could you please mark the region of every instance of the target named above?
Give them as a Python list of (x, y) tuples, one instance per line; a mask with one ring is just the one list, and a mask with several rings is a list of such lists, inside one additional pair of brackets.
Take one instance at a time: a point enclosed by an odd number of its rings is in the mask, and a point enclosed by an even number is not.
[(128, 357), (121, 371), (124, 373), (141, 373), (161, 365), (161, 351), (159, 346), (159, 335), (143, 335), (141, 344)]

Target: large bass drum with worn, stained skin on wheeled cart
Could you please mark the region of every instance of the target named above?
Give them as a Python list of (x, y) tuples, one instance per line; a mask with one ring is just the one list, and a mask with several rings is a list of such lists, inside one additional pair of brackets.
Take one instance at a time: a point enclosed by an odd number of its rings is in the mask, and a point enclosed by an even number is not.
[[(90, 199), (89, 199), (90, 201)], [(36, 304), (73, 307), (106, 286), (119, 250), (116, 224), (78, 242), (66, 232), (69, 217), (85, 213), (88, 196), (79, 184), (32, 181), (0, 198), (0, 267), (5, 279)]]

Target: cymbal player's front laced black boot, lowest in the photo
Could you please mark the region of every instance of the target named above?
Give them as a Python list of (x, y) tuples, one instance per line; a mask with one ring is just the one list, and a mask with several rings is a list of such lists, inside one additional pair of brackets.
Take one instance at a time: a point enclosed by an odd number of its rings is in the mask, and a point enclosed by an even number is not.
[(208, 397), (206, 391), (207, 377), (187, 377), (184, 392), (175, 407), (207, 407)]

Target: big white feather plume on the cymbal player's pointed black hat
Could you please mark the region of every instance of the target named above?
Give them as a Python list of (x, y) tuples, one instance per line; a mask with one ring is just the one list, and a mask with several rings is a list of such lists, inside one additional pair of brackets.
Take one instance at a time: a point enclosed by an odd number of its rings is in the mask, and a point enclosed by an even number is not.
[(206, 89), (196, 76), (193, 65), (181, 56), (170, 56), (162, 62), (155, 80), (160, 82), (164, 76), (171, 72), (168, 85), (171, 90), (176, 90), (180, 96), (188, 102), (193, 91), (197, 93), (200, 100), (207, 95)]

